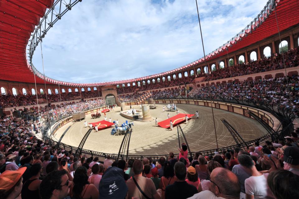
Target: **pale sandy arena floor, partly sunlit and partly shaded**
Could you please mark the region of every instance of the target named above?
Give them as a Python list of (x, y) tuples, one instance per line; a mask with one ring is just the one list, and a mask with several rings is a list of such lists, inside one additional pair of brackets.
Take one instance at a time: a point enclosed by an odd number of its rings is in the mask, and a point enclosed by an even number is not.
[[(136, 105), (133, 107), (140, 110), (140, 106)], [(154, 118), (157, 117), (158, 121), (167, 119), (167, 113), (169, 113), (170, 116), (176, 115), (176, 111), (162, 112), (162, 107), (163, 105), (159, 104), (157, 105), (157, 109), (150, 110), (151, 115)], [(165, 104), (164, 107), (166, 108)], [(211, 108), (187, 104), (177, 104), (177, 107), (180, 113), (195, 114), (195, 111), (199, 112), (199, 119), (191, 119), (188, 121), (187, 125), (185, 123), (181, 124), (190, 149), (192, 151), (215, 149), (216, 138)], [(127, 108), (129, 109), (129, 106), (127, 106)], [(117, 107), (115, 111), (108, 112), (107, 119), (109, 119), (109, 117), (112, 118), (112, 121), (118, 119), (120, 124), (125, 122), (126, 118), (120, 116), (119, 111), (120, 107)], [(254, 140), (255, 138), (267, 133), (258, 122), (235, 113), (214, 109), (214, 116), (219, 147), (235, 145), (234, 139), (221, 122), (221, 118), (225, 118), (240, 133), (240, 135), (242, 135), (245, 141)], [(72, 126), (67, 131), (66, 135), (64, 135), (61, 142), (78, 147), (83, 136), (88, 131), (88, 128), (84, 128), (84, 121), (96, 122), (103, 119), (103, 115), (99, 119), (92, 119), (89, 114), (86, 116), (85, 120), (69, 123), (72, 124)], [(178, 136), (176, 126), (173, 128), (173, 131), (170, 131), (161, 127), (154, 127), (154, 120), (151, 122), (133, 122), (134, 126), (131, 135), (129, 154), (158, 155), (168, 154), (170, 151), (178, 153)], [(69, 124), (63, 126), (56, 132), (56, 139), (60, 138)], [(117, 154), (123, 135), (110, 135), (111, 130), (112, 128), (100, 130), (98, 132), (93, 130), (86, 140), (83, 148), (104, 153)]]

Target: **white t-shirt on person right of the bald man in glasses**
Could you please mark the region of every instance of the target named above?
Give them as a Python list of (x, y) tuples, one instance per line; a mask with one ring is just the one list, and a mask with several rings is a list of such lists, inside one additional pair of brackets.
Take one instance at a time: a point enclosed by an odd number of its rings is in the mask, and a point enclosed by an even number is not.
[(268, 184), (269, 173), (261, 176), (251, 176), (245, 180), (245, 192), (248, 195), (254, 195), (254, 198), (274, 198)]

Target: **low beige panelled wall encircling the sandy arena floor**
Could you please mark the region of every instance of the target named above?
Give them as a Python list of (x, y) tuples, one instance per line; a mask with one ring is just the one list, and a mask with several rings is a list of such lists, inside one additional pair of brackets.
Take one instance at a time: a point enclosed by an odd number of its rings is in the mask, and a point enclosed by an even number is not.
[[(272, 114), (270, 114), (267, 111), (263, 111), (263, 110), (259, 110), (257, 108), (252, 108), (249, 106), (243, 106), (243, 105), (239, 105), (239, 104), (234, 104), (234, 103), (229, 103), (229, 102), (219, 102), (219, 101), (208, 101), (208, 100), (199, 100), (199, 99), (169, 99), (169, 100), (155, 100), (156, 104), (167, 104), (167, 103), (176, 103), (176, 104), (190, 104), (190, 105), (197, 105), (197, 106), (202, 106), (202, 107), (212, 107), (215, 109), (219, 109), (219, 110), (224, 110), (224, 111), (229, 111), (231, 113), (234, 114), (238, 114), (247, 118), (251, 118), (254, 119), (252, 116), (249, 115), (249, 111), (253, 114), (255, 114), (256, 116), (258, 116), (259, 118), (261, 118), (264, 122), (266, 122), (272, 129), (278, 129), (280, 128), (280, 122), (279, 120), (273, 116)], [(145, 102), (147, 103), (147, 102)], [(129, 102), (126, 103), (127, 106), (130, 105), (137, 105), (137, 102)], [(85, 111), (85, 114), (91, 114), (93, 112), (97, 112), (100, 111), (102, 109), (105, 109), (106, 107), (99, 107), (96, 109), (92, 109), (92, 110), (88, 110)], [(69, 116), (67, 118), (64, 118), (62, 120), (60, 120), (59, 122), (57, 122), (55, 125), (53, 125), (51, 127), (51, 133), (52, 135), (55, 134), (55, 132), (62, 126), (66, 125), (67, 123), (73, 121), (72, 116)], [(134, 127), (133, 127), (134, 128)], [(246, 142), (246, 144), (248, 145), (252, 145), (254, 144), (255, 141), (259, 140), (260, 143), (265, 142), (267, 140), (271, 140), (271, 134), (268, 133), (267, 135), (264, 135), (262, 137), (259, 137), (256, 140), (251, 140), (249, 142)], [(93, 150), (87, 150), (87, 149), (78, 149), (75, 146), (71, 146), (71, 145), (66, 145), (64, 143), (59, 143), (55, 140), (51, 140), (52, 142), (54, 142), (55, 145), (59, 145), (60, 148), (64, 149), (64, 150), (72, 150), (73, 153), (74, 152), (78, 152), (81, 153), (82, 155), (85, 154), (88, 157), (90, 156), (98, 156), (100, 158), (101, 161), (103, 161), (107, 155), (110, 155), (112, 157), (112, 159), (117, 159), (117, 154), (108, 154), (108, 153), (102, 153), (99, 151), (93, 151)], [(117, 148), (120, 145), (117, 146)], [(226, 146), (224, 148), (221, 149), (208, 149), (208, 150), (204, 150), (201, 151), (202, 154), (204, 155), (208, 155), (208, 154), (214, 154), (214, 151), (218, 151), (218, 150), (222, 150), (222, 149), (229, 149), (229, 148), (234, 148), (234, 147), (241, 147), (241, 148), (245, 148), (246, 145), (245, 144), (240, 144), (240, 145), (231, 145), (231, 146)], [(193, 154), (195, 153), (195, 151), (191, 152), (191, 156), (193, 156)], [(130, 158), (143, 158), (143, 157), (151, 157), (152, 159), (159, 159), (159, 157), (161, 156), (168, 156), (168, 154), (159, 154), (159, 155), (146, 155), (146, 154), (136, 154), (136, 155), (131, 155), (129, 154), (126, 157), (121, 157), (123, 159), (130, 159)]]

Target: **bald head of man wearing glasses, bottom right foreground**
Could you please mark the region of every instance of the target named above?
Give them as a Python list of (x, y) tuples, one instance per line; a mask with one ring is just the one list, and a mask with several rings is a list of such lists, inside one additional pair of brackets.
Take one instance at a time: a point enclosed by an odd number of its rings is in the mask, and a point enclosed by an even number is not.
[(240, 182), (235, 173), (231, 172), (228, 169), (217, 167), (211, 173), (211, 191), (216, 196), (225, 196), (229, 198), (240, 198)]

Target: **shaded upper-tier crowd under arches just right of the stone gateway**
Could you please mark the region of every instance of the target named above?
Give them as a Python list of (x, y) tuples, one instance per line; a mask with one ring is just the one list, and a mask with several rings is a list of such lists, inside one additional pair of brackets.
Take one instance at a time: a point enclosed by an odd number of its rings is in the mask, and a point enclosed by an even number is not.
[(176, 79), (171, 79), (170, 81), (165, 80), (164, 82), (155, 82), (155, 83), (150, 83), (148, 84), (147, 82), (145, 85), (140, 85), (140, 87), (136, 86), (129, 86), (129, 87), (124, 87), (124, 88), (117, 88), (117, 94), (122, 94), (122, 93), (130, 93), (130, 92), (135, 92), (136, 88), (139, 88), (138, 92), (142, 92), (143, 90), (151, 90), (151, 89), (159, 89), (159, 88), (166, 88), (166, 87), (173, 87), (173, 86), (183, 86), (186, 84), (189, 84), (193, 81), (195, 78), (195, 75), (188, 76), (188, 77), (182, 77), (182, 78), (176, 78)]

